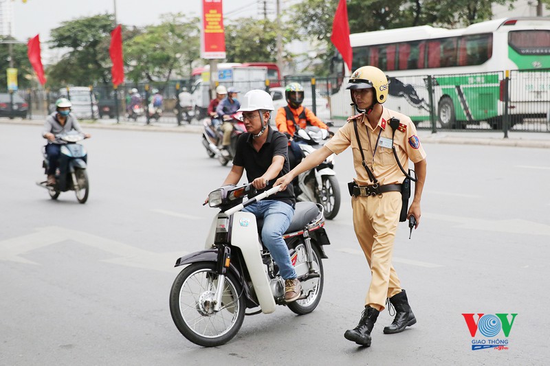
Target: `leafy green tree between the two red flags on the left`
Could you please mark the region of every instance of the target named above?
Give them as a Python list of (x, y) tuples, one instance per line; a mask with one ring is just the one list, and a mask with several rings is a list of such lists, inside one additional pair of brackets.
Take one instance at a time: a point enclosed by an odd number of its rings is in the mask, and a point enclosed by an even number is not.
[[(55, 65), (47, 68), (52, 84), (91, 85), (111, 80), (109, 39), (113, 15), (100, 14), (61, 23), (51, 32), (52, 48), (68, 48)], [(49, 82), (50, 83), (50, 82)]]

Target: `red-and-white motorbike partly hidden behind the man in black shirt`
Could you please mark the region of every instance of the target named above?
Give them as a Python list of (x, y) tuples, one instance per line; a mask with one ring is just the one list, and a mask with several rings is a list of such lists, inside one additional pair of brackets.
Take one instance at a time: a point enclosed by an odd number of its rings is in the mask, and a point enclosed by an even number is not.
[(228, 150), (223, 149), (223, 131), (221, 126), (215, 128), (212, 120), (205, 119), (202, 129), (202, 144), (206, 148), (206, 153), (209, 157), (217, 157), (221, 165), (227, 165), (233, 160), (236, 151), (236, 141), (239, 136), (246, 132), (245, 124), (243, 123), (243, 114), (241, 112), (226, 116), (225, 122), (231, 122), (233, 130), (231, 132), (231, 144)]

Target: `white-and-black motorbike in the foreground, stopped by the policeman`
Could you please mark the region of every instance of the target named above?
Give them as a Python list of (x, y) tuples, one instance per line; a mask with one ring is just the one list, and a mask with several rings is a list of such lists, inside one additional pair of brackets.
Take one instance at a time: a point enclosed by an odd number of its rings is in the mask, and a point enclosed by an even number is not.
[(256, 216), (243, 207), (278, 192), (272, 187), (254, 194), (252, 185), (226, 185), (210, 192), (210, 207), (221, 211), (212, 220), (205, 249), (176, 261), (184, 266), (170, 290), (170, 312), (181, 334), (197, 345), (213, 347), (230, 341), (246, 315), (269, 314), (275, 305), (286, 305), (296, 314), (312, 312), (321, 299), (325, 274), (322, 249), (330, 244), (325, 232), (322, 206), (311, 202), (296, 204), (296, 212), (284, 234), (302, 294), (285, 302), (285, 282), (269, 251), (259, 242)]

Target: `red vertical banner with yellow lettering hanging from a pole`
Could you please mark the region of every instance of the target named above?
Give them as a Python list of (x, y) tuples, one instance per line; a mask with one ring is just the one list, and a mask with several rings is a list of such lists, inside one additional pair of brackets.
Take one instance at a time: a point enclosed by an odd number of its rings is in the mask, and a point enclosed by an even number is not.
[(202, 1), (201, 57), (225, 58), (221, 0)]

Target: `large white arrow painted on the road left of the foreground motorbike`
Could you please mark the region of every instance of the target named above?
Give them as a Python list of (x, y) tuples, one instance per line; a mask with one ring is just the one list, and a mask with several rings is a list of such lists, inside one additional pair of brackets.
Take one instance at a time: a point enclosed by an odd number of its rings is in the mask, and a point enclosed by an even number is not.
[(41, 227), (36, 230), (38, 231), (36, 233), (0, 241), (0, 260), (38, 264), (23, 258), (21, 255), (58, 242), (72, 240), (117, 256), (116, 258), (102, 260), (102, 262), (173, 273), (176, 259), (187, 254), (185, 251), (155, 253), (84, 231), (63, 227)]

